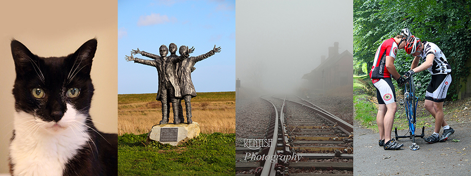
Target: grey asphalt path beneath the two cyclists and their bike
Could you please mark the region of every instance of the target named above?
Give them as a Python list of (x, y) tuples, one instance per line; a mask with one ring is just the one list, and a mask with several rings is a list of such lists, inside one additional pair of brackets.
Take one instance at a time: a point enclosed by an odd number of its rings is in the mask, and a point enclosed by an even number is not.
[[(355, 125), (353, 175), (471, 176), (471, 123), (451, 124), (450, 127), (455, 132), (446, 142), (428, 144), (422, 138), (416, 138), (420, 149), (412, 151), (409, 149), (412, 139), (401, 138), (398, 142), (404, 144), (403, 150), (385, 151), (378, 145), (378, 133)], [(424, 138), (432, 132), (432, 128), (426, 128)], [(416, 133), (419, 133), (419, 127)], [(407, 131), (398, 132), (398, 135), (405, 134)]]

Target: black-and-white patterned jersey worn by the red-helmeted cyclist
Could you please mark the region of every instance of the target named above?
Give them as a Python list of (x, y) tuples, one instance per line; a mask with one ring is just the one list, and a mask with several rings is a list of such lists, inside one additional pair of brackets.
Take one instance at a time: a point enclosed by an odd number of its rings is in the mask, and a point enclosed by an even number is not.
[(443, 54), (442, 50), (436, 44), (425, 41), (423, 42), (423, 49), (419, 57), (425, 61), (425, 58), (429, 54), (435, 55), (432, 66), (427, 68), (432, 75), (448, 74), (451, 72), (451, 66), (446, 61), (445, 54)]

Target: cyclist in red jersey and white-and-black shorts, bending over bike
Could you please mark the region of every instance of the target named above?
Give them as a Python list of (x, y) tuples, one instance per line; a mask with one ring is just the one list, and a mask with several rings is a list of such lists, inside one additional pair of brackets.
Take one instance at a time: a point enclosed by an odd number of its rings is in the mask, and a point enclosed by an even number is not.
[(376, 98), (378, 99), (378, 113), (376, 115), (376, 124), (379, 131), (379, 146), (384, 150), (397, 150), (403, 144), (398, 144), (391, 138), (392, 124), (394, 123), (394, 114), (396, 113), (396, 95), (392, 79), (397, 84), (402, 85), (405, 79), (397, 72), (394, 67), (394, 59), (397, 49), (404, 48), (405, 37), (410, 34), (409, 29), (403, 29), (399, 35), (384, 41), (376, 50), (373, 66), (369, 72), (369, 77), (376, 88)]

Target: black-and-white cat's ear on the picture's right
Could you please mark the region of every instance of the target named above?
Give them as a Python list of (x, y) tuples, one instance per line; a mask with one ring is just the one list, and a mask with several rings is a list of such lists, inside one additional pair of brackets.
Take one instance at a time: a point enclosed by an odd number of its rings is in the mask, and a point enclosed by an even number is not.
[(92, 68), (92, 60), (97, 50), (97, 39), (90, 39), (82, 44), (71, 58), (74, 63), (73, 67), (78, 67), (80, 72), (90, 74)]

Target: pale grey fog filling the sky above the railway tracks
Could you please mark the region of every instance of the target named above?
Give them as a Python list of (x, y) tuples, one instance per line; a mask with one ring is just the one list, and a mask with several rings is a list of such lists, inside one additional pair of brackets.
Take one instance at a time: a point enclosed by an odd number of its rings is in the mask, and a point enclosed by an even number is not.
[(335, 42), (353, 54), (351, 0), (237, 0), (235, 11), (239, 91), (293, 92)]

